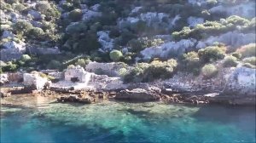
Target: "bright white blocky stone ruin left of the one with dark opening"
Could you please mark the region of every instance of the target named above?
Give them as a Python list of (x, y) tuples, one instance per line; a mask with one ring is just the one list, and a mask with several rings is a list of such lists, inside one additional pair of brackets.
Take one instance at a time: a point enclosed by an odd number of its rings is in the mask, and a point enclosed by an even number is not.
[(24, 73), (23, 84), (35, 89), (44, 89), (44, 86), (48, 83), (47, 78), (40, 77), (38, 73)]

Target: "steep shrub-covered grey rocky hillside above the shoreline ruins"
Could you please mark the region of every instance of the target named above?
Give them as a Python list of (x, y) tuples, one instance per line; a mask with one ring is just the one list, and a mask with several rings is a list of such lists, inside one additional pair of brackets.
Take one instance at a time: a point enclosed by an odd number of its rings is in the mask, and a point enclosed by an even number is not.
[(0, 14), (3, 72), (119, 61), (148, 82), (256, 65), (253, 0), (2, 0)]

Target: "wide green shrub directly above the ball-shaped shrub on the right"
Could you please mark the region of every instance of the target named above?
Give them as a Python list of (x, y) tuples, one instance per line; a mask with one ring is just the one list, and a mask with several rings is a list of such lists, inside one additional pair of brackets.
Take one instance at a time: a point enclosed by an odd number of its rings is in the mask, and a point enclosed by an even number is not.
[(202, 62), (208, 63), (215, 60), (221, 60), (224, 58), (225, 54), (224, 47), (207, 47), (206, 49), (200, 49), (198, 51), (199, 58)]

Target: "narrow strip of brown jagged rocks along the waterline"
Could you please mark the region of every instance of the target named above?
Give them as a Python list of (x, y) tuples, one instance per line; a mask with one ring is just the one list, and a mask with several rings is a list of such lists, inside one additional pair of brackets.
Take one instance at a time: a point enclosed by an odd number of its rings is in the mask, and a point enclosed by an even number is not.
[(223, 93), (180, 92), (172, 89), (160, 89), (156, 86), (141, 83), (136, 89), (95, 90), (95, 89), (42, 89), (10, 88), (1, 92), (1, 98), (12, 98), (18, 94), (31, 94), (33, 96), (54, 96), (56, 102), (93, 104), (103, 100), (126, 102), (164, 102), (166, 104), (188, 105), (232, 105), (255, 106), (255, 96), (228, 95)]

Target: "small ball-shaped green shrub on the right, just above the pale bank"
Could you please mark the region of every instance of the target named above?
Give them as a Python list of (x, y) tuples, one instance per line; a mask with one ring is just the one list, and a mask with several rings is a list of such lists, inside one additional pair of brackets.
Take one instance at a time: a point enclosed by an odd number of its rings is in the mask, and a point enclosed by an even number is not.
[(207, 64), (201, 69), (202, 75), (206, 78), (212, 78), (218, 74), (218, 69), (212, 64)]

